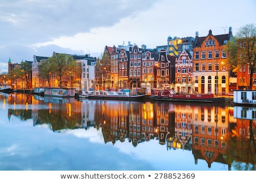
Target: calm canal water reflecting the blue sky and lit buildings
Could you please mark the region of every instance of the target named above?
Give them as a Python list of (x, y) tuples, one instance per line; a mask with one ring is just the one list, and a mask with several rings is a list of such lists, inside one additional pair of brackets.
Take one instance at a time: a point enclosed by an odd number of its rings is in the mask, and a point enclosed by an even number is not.
[(0, 93), (0, 170), (255, 170), (246, 111)]

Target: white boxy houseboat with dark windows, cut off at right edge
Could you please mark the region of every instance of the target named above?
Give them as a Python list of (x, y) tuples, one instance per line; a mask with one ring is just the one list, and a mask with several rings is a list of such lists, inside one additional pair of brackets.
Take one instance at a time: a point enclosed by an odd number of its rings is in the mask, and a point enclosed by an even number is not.
[(256, 106), (256, 90), (234, 90), (234, 105)]

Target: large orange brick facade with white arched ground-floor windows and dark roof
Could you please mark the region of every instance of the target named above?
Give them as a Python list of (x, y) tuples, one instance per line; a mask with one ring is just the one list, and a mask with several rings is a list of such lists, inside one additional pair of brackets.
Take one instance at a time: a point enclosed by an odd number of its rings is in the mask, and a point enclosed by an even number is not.
[(193, 86), (198, 93), (214, 93), (216, 96), (229, 93), (229, 65), (225, 44), (232, 39), (229, 34), (209, 34), (199, 37), (196, 32), (193, 47)]

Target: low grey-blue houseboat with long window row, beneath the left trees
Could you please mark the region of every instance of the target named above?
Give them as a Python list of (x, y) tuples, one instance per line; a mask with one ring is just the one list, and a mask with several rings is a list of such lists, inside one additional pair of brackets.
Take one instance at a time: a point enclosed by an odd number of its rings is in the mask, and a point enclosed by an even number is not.
[(75, 88), (44, 88), (47, 97), (75, 97)]

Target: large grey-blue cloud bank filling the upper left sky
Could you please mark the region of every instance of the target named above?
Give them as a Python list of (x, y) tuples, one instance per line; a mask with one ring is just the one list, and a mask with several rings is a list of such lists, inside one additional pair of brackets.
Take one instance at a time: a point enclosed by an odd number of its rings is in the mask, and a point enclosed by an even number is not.
[(152, 5), (137, 1), (1, 1), (2, 44), (46, 42), (55, 37), (110, 27)]

